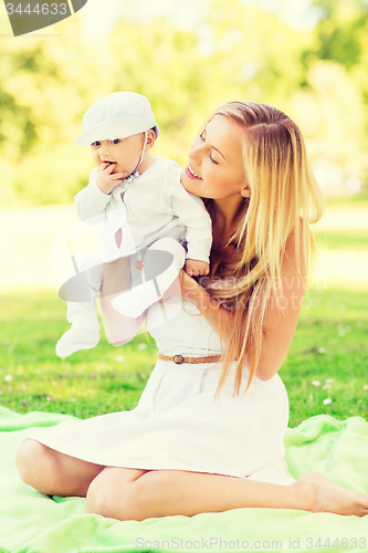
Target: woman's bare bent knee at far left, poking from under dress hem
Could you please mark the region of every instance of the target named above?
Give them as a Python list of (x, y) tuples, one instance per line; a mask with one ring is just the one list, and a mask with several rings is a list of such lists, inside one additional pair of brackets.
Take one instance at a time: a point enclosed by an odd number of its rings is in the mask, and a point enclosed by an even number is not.
[(75, 459), (33, 439), (23, 441), (15, 465), (23, 482), (48, 495), (85, 498), (91, 482), (105, 468)]

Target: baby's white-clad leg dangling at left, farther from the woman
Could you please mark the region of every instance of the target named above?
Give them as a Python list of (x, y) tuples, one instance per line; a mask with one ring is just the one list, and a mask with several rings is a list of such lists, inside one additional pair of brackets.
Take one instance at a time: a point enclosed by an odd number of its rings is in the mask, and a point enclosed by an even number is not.
[(85, 271), (82, 270), (65, 284), (66, 319), (72, 327), (56, 344), (59, 357), (67, 357), (80, 349), (90, 349), (98, 344), (99, 324), (96, 298), (101, 289), (102, 275), (103, 264), (99, 262)]

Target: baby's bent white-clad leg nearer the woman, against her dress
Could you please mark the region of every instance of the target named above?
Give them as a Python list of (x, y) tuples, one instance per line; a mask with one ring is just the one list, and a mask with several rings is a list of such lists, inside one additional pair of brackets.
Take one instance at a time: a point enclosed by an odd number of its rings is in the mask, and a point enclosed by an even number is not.
[(144, 255), (141, 270), (145, 282), (117, 296), (113, 307), (126, 316), (139, 316), (159, 301), (178, 276), (186, 260), (186, 250), (172, 238), (161, 238)]

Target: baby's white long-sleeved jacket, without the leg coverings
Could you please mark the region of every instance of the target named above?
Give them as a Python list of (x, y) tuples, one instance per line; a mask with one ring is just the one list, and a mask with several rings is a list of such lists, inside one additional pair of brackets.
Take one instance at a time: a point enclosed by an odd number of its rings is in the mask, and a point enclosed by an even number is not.
[[(156, 163), (132, 185), (123, 181), (111, 195), (104, 194), (98, 188), (97, 169), (93, 169), (88, 186), (75, 196), (78, 218), (86, 221), (106, 213), (107, 221), (109, 219), (116, 221), (115, 226), (108, 227), (109, 236), (104, 241), (104, 262), (129, 255), (151, 244), (178, 225), (187, 228), (187, 258), (209, 262), (212, 242), (211, 219), (202, 200), (187, 192), (181, 186), (182, 168), (179, 164), (164, 157), (154, 159)], [(114, 231), (122, 227), (123, 242), (118, 250)], [(124, 237), (125, 228), (129, 238)]]

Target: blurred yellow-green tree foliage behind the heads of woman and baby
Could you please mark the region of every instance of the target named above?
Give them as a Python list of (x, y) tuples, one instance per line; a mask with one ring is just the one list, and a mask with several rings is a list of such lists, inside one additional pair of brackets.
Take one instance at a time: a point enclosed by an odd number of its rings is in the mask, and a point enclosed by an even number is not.
[(262, 2), (212, 0), (192, 30), (122, 17), (105, 40), (91, 40), (76, 15), (54, 27), (60, 35), (1, 38), (1, 205), (72, 201), (92, 168), (74, 144), (83, 113), (117, 90), (150, 100), (161, 129), (155, 153), (181, 164), (203, 117), (245, 97), (290, 114), (317, 165), (367, 180), (367, 4), (314, 3), (322, 18), (309, 30)]

